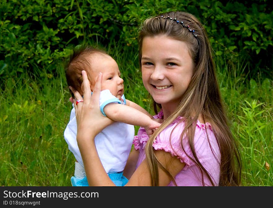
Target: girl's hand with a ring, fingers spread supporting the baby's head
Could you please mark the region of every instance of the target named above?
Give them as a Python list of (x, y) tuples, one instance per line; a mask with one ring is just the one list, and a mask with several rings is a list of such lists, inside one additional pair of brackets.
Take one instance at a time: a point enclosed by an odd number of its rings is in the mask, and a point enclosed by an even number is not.
[(73, 103), (77, 119), (78, 145), (81, 142), (94, 139), (95, 136), (100, 133), (102, 129), (114, 122), (109, 118), (103, 116), (100, 111), (99, 99), (101, 93), (102, 74), (99, 73), (92, 96), (86, 71), (82, 71), (82, 75), (84, 102), (78, 102), (76, 105), (76, 100), (83, 100), (83, 97), (80, 95), (80, 93), (78, 93), (76, 89), (71, 86), (69, 87), (74, 93), (75, 97), (75, 99), (73, 99)]

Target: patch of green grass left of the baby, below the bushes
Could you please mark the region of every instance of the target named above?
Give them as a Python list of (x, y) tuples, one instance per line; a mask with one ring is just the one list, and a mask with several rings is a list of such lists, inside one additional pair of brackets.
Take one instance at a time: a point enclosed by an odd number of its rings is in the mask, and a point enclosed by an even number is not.
[(70, 105), (64, 84), (63, 73), (6, 81), (0, 93), (0, 185), (70, 184), (73, 160), (63, 138)]

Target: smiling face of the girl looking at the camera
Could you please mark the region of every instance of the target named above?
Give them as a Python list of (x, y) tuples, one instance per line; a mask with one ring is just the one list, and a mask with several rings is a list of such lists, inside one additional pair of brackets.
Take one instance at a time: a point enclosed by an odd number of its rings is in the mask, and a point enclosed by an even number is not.
[(173, 112), (193, 75), (194, 63), (187, 44), (167, 35), (145, 37), (142, 42), (141, 71), (145, 88)]

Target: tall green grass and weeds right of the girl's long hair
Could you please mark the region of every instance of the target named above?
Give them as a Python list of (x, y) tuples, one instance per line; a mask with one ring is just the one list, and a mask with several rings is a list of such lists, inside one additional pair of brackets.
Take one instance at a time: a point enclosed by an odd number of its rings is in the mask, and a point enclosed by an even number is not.
[[(272, 79), (246, 79), (247, 64), (220, 64), (218, 79), (242, 156), (244, 186), (273, 186)], [(224, 61), (224, 63), (226, 63)], [(268, 166), (268, 165), (269, 166)]]

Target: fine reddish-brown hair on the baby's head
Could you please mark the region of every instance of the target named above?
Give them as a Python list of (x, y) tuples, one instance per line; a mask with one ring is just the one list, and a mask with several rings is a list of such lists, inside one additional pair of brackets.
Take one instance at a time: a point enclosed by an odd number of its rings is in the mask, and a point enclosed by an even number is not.
[[(92, 66), (91, 57), (92, 55), (98, 53), (108, 55), (104, 50), (99, 48), (87, 45), (77, 46), (73, 49), (73, 52), (70, 55), (69, 61), (65, 67), (65, 76), (68, 86), (72, 86), (73, 88), (75, 88), (82, 96), (83, 96), (82, 70), (86, 71), (88, 80), (90, 84), (92, 84), (94, 80), (92, 80), (93, 73), (91, 67)], [(69, 91), (72, 97), (74, 97), (72, 91), (71, 90)]]

